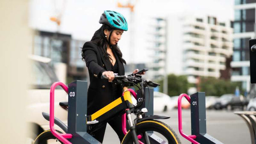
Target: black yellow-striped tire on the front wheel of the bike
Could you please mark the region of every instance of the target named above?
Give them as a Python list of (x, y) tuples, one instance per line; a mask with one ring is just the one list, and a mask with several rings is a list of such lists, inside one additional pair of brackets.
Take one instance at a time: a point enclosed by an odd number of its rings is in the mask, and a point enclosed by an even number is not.
[[(140, 135), (140, 134), (143, 135), (145, 132), (148, 132), (148, 131), (160, 133), (168, 141), (168, 144), (180, 144), (180, 139), (177, 137), (176, 133), (172, 130), (172, 128), (170, 128), (168, 125), (166, 125), (161, 121), (146, 120), (137, 124), (136, 126), (137, 135)], [(143, 141), (143, 140), (140, 140), (140, 141)], [(123, 138), (121, 144), (134, 144), (130, 130)]]

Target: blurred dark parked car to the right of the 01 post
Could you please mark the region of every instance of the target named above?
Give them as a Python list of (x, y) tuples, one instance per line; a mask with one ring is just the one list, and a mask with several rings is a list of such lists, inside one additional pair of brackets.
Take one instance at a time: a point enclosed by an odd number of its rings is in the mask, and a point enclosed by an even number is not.
[(243, 95), (235, 96), (234, 94), (222, 95), (215, 103), (215, 109), (228, 109), (233, 110), (234, 108), (244, 109), (249, 102), (244, 98)]

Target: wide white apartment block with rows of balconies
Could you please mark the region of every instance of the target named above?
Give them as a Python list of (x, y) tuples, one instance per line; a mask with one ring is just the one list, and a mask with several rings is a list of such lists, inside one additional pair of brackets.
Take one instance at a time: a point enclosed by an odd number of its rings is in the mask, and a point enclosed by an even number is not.
[(226, 59), (233, 53), (230, 21), (192, 15), (168, 18), (168, 72), (188, 75), (196, 84), (199, 76), (221, 77)]

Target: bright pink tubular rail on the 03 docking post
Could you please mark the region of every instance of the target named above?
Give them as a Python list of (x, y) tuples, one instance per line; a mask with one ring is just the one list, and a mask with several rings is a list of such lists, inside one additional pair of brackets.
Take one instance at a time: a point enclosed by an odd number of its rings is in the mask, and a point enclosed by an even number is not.
[(54, 129), (54, 90), (56, 86), (61, 86), (65, 90), (65, 92), (68, 93), (68, 88), (65, 84), (61, 82), (55, 82), (52, 84), (50, 89), (50, 130), (52, 134), (64, 144), (72, 144), (70, 141), (67, 140), (67, 138), (72, 138), (72, 134), (60, 134)]

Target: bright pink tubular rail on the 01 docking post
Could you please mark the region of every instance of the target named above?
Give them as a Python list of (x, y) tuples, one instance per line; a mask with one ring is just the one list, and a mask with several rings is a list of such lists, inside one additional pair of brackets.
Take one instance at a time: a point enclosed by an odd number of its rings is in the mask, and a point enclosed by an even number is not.
[(178, 99), (178, 122), (179, 122), (179, 132), (180, 135), (182, 135), (184, 138), (192, 142), (193, 144), (200, 144), (194, 139), (196, 138), (196, 135), (186, 135), (183, 130), (182, 130), (182, 112), (181, 112), (181, 100), (182, 98), (185, 97), (187, 101), (190, 103), (190, 98), (186, 94), (180, 94), (179, 99)]

